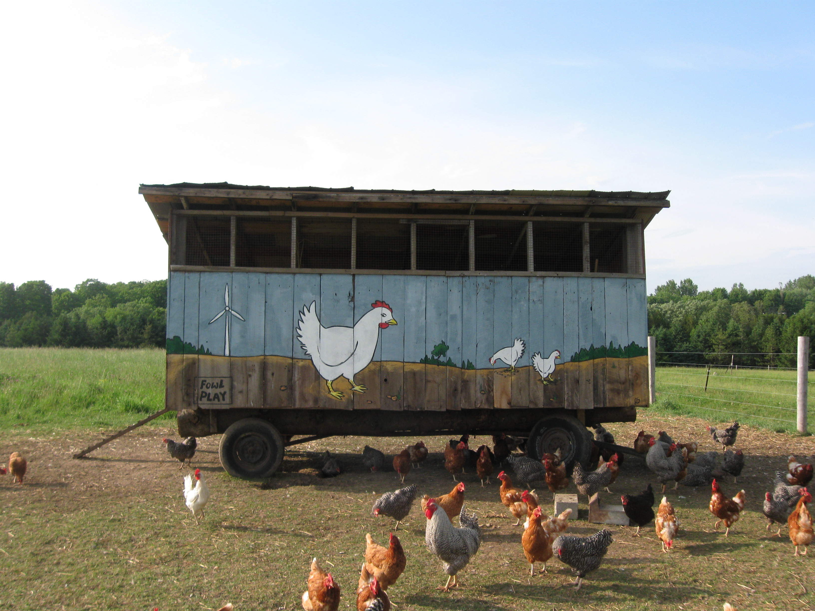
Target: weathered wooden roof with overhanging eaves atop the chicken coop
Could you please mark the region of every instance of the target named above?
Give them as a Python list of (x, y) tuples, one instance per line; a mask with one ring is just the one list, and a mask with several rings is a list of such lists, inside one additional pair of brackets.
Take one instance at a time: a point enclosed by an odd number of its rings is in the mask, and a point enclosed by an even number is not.
[(671, 191), (399, 191), (323, 187), (248, 187), (228, 182), (139, 185), (161, 232), (168, 237), (174, 209), (297, 213), (389, 213), (566, 218), (640, 218), (644, 225), (670, 207)]

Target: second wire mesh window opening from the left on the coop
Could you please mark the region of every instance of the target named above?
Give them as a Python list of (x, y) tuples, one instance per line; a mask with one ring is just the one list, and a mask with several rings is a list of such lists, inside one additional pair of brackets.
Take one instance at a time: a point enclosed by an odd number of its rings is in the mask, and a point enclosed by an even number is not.
[(289, 267), (292, 262), (292, 222), (238, 217), (235, 265), (239, 267)]

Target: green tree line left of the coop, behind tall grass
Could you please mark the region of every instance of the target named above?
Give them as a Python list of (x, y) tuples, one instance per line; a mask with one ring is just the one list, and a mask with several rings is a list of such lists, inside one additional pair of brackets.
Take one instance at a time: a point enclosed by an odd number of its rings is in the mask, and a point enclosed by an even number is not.
[(141, 348), (165, 345), (167, 281), (69, 288), (0, 282), (0, 346)]

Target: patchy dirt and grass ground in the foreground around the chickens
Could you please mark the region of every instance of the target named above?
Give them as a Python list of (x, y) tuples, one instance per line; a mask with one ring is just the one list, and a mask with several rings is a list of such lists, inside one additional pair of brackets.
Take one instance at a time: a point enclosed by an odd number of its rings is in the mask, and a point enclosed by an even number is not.
[[(703, 420), (664, 419), (641, 412), (632, 424), (610, 424), (620, 442), (630, 443), (640, 428), (666, 429), (677, 439), (697, 439), (716, 449)], [(353, 591), (364, 552), (364, 534), (384, 543), (393, 527), (375, 519), (371, 504), (394, 490), (395, 473), (370, 473), (359, 452), (366, 443), (385, 452), (413, 439), (335, 437), (296, 446), (266, 490), (231, 479), (218, 464), (218, 436), (200, 440), (193, 466), (209, 481), (212, 501), (196, 526), (181, 497), (182, 474), (161, 437), (174, 431), (143, 428), (122, 437), (91, 459), (70, 455), (97, 439), (85, 432), (52, 435), (24, 431), (7, 435), (0, 455), (19, 450), (29, 459), (24, 486), (0, 480), (3, 532), (0, 605), (14, 609), (218, 609), (231, 601), (237, 611), (299, 609), (308, 565), (318, 556), (343, 589), (341, 609), (353, 608)], [(479, 437), (473, 445), (481, 442)], [(434, 454), (413, 470), (407, 483), (420, 494), (449, 492), (454, 482), (443, 469), (441, 437), (426, 438)], [(729, 538), (712, 530), (709, 490), (680, 486), (668, 497), (682, 521), (676, 549), (660, 552), (653, 525), (641, 538), (633, 529), (610, 526), (615, 543), (596, 573), (575, 592), (571, 572), (557, 560), (550, 574), (529, 576), (522, 556), (521, 527), (513, 527), (498, 499), (498, 486), (482, 488), (472, 470), (463, 477), (466, 503), (478, 512), (483, 543), (460, 574), (463, 587), (444, 594), (438, 560), (424, 543), (425, 518), (414, 506), (398, 531), (407, 551), (405, 574), (390, 590), (397, 611), (407, 609), (815, 609), (815, 557), (794, 558), (789, 539), (770, 537), (760, 515), (761, 499), (786, 455), (815, 455), (815, 437), (794, 437), (742, 427), (738, 447), (747, 467), (729, 495), (747, 491), (747, 511)], [(324, 450), (336, 453), (346, 473), (315, 477)], [(650, 473), (628, 458), (614, 494), (637, 492)], [(570, 490), (574, 491), (573, 487)], [(550, 508), (548, 490), (540, 492)], [(570, 534), (591, 534), (599, 526), (579, 521)], [(813, 550), (815, 553), (815, 550)]]

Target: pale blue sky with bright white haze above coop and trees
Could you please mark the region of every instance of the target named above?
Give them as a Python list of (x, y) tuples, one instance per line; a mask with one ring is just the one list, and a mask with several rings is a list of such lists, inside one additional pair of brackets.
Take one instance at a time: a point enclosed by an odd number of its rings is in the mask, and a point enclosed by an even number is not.
[(671, 189), (651, 290), (815, 271), (811, 3), (18, 5), (0, 279), (165, 277), (139, 182), (222, 180)]

